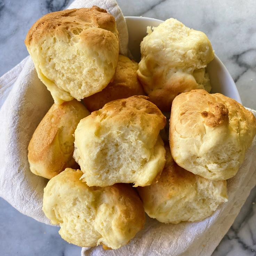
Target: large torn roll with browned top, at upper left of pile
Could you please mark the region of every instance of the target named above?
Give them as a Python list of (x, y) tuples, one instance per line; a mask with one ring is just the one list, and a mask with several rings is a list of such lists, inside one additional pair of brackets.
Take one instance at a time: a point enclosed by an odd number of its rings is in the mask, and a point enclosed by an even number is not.
[(115, 19), (97, 6), (43, 16), (27, 33), (25, 44), (56, 104), (101, 91), (117, 67)]

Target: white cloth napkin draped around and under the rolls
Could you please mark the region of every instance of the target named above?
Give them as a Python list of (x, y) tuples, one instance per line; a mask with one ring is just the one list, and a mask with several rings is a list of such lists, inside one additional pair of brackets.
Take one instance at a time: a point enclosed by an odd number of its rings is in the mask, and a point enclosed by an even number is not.
[[(92, 5), (106, 9), (116, 18), (120, 53), (127, 55), (128, 32), (117, 2), (76, 0), (69, 9)], [(52, 104), (30, 57), (0, 78), (0, 196), (21, 213), (46, 224), (50, 221), (42, 211), (42, 198), (48, 180), (31, 173), (27, 146)], [(256, 115), (256, 111), (250, 111)], [(205, 221), (173, 225), (147, 217), (145, 228), (127, 246), (107, 251), (101, 246), (82, 248), (82, 255), (211, 255), (256, 183), (255, 149), (254, 140), (238, 174), (228, 180), (229, 201)]]

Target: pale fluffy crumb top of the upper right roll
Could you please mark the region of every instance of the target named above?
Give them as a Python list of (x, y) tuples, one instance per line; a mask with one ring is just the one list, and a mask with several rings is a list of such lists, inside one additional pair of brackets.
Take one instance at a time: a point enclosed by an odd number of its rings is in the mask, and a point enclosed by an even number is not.
[[(193, 73), (196, 69), (206, 67), (214, 56), (203, 32), (190, 29), (173, 18), (161, 23), (153, 32), (148, 29), (148, 32), (142, 41), (141, 51), (143, 54), (144, 51), (149, 51), (149, 55), (154, 54), (158, 64), (168, 60), (169, 67)], [(163, 51), (166, 58), (162, 56)]]

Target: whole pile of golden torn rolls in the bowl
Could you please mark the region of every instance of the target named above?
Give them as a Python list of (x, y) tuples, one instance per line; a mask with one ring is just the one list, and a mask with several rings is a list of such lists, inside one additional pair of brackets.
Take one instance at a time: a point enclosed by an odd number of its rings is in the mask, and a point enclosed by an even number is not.
[(55, 102), (29, 143), (30, 169), (50, 179), (43, 211), (78, 246), (126, 245), (145, 212), (209, 217), (256, 134), (252, 113), (209, 94), (204, 33), (173, 18), (147, 33), (139, 64), (119, 55), (115, 19), (97, 6), (47, 14), (25, 40)]

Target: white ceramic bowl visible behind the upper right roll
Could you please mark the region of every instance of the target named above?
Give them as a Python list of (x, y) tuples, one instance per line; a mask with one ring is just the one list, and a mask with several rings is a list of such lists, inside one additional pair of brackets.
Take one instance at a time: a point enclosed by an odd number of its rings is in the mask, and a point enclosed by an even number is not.
[[(140, 61), (140, 43), (146, 36), (147, 26), (156, 27), (163, 21), (145, 17), (125, 17), (129, 33), (129, 49), (136, 61)], [(207, 71), (210, 74), (211, 93), (221, 93), (241, 103), (237, 87), (227, 71), (226, 67), (215, 55), (213, 61), (208, 64)]]

